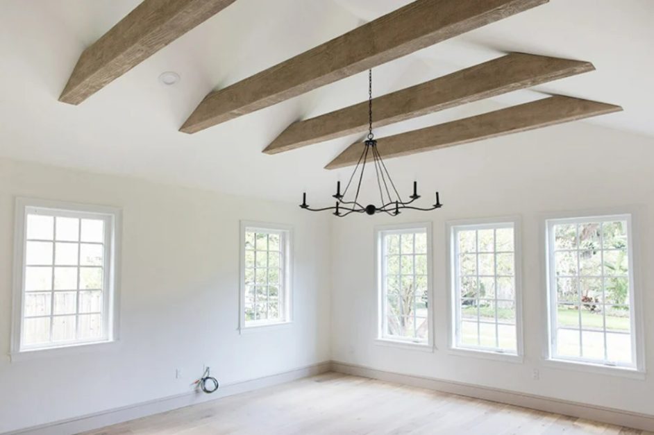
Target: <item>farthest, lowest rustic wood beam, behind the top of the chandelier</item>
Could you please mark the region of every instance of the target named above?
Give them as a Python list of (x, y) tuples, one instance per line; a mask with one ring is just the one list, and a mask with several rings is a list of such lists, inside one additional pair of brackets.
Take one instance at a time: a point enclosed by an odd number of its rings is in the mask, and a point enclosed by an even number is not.
[[(619, 105), (555, 95), (531, 103), (480, 114), (476, 117), (383, 137), (378, 139), (377, 148), (380, 155), (388, 159), (535, 130), (621, 110)], [(356, 164), (362, 146), (362, 142), (352, 144), (325, 168), (337, 169)]]

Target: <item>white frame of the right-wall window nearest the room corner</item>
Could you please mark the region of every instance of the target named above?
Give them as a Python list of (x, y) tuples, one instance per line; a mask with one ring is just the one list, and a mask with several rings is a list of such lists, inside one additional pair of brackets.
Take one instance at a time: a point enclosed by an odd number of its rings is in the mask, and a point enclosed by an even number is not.
[[(386, 312), (386, 280), (384, 236), (386, 234), (413, 233), (417, 230), (424, 230), (427, 234), (427, 341), (417, 341), (410, 338), (403, 339), (399, 336), (387, 336), (385, 334), (385, 312)], [(434, 298), (433, 298), (433, 237), (432, 223), (403, 223), (397, 225), (378, 225), (375, 227), (375, 276), (376, 276), (376, 299), (377, 299), (377, 334), (376, 343), (383, 346), (397, 346), (414, 350), (426, 350), (433, 352), (434, 346)]]

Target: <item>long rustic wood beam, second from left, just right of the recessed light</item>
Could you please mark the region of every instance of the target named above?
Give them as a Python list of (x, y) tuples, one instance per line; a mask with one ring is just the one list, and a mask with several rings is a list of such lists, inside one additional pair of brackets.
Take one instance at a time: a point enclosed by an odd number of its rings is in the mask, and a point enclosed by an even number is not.
[(208, 94), (181, 127), (196, 133), (352, 76), (548, 0), (416, 0)]

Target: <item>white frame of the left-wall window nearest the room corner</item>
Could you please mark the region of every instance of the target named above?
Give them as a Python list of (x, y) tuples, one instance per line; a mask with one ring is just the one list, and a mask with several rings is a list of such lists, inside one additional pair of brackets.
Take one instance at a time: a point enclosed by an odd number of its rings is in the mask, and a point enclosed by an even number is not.
[[(245, 321), (245, 233), (247, 231), (254, 232), (274, 232), (283, 234), (283, 278), (280, 278), (280, 284), (283, 289), (280, 289), (283, 294), (283, 303), (281, 310), (284, 316), (281, 321)], [(265, 223), (256, 221), (241, 221), (240, 222), (240, 286), (239, 286), (239, 332), (251, 332), (257, 330), (276, 329), (278, 327), (286, 327), (293, 323), (293, 227), (292, 225), (284, 225), (280, 223)], [(282, 243), (282, 239), (280, 239)]]

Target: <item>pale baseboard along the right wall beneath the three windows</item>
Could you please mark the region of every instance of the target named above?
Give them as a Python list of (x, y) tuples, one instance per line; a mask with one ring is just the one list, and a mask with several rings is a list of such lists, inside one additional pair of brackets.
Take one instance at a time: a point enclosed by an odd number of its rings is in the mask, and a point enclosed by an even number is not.
[(654, 431), (654, 416), (643, 413), (598, 407), (526, 393), (516, 393), (514, 391), (493, 389), (486, 386), (435, 379), (433, 377), (402, 375), (400, 373), (392, 373), (339, 361), (332, 361), (331, 369), (335, 372), (344, 373), (346, 375), (369, 377), (371, 379), (380, 379), (386, 382), (394, 382), (396, 384), (417, 386), (419, 388), (443, 391), (445, 393), (464, 395), (470, 398), (490, 400), (492, 402), (512, 404), (518, 407), (558, 413), (564, 416), (585, 418), (587, 420), (595, 420), (610, 425)]

